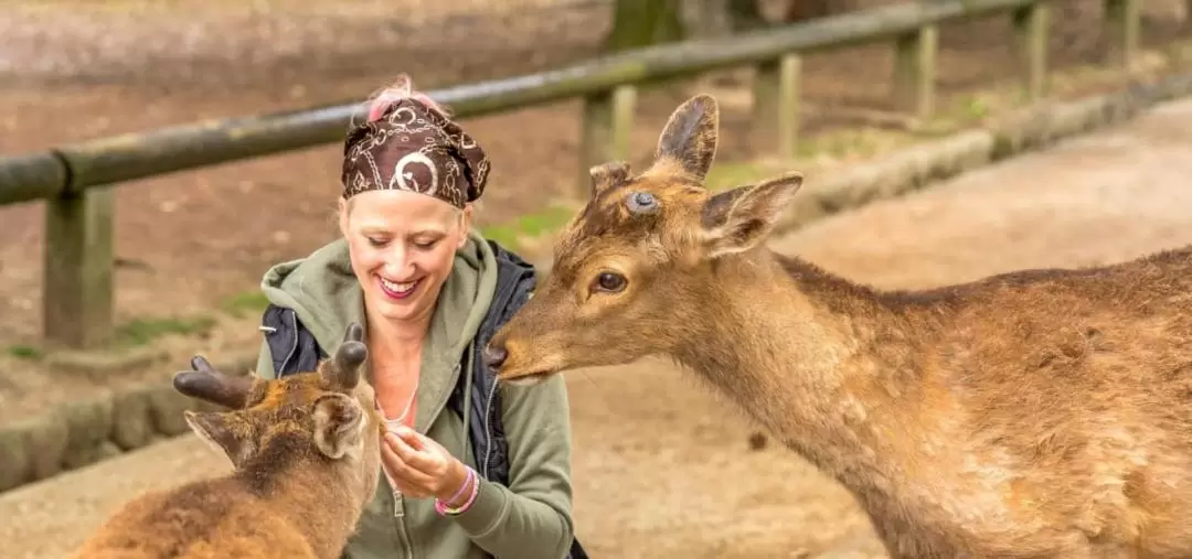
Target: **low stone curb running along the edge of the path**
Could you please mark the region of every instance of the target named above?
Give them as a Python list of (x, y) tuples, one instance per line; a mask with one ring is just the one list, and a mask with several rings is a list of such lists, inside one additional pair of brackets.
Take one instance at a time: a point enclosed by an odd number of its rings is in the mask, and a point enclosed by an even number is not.
[[(1058, 139), (1126, 122), (1160, 103), (1192, 94), (1192, 74), (1075, 101), (1044, 103), (993, 125), (895, 151), (874, 161), (833, 170), (809, 181), (780, 221), (775, 234), (790, 232), (825, 216), (893, 198), (1006, 157), (1045, 148)], [(530, 255), (527, 255), (530, 257)], [(538, 262), (550, 272), (548, 255)], [(256, 354), (222, 367), (252, 368)], [(66, 470), (131, 452), (190, 429), (182, 410), (213, 409), (178, 393), (169, 381), (72, 402), (0, 428), (0, 491), (49, 478)]]

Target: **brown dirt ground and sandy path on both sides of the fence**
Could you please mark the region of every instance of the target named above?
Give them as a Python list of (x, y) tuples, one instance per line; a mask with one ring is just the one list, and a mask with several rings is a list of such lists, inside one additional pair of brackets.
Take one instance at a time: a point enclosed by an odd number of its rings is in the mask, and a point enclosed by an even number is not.
[[(299, 0), (7, 2), (0, 154), (359, 99), (402, 70), (422, 87), (529, 72), (590, 55), (607, 25), (598, 1), (502, 1), (517, 5), (504, 8), (504, 18), (458, 10), (434, 21), (395, 14), (379, 0), (334, 10)], [(1054, 68), (1097, 60), (1100, 4), (1055, 2)], [(1144, 11), (1146, 44), (1177, 35), (1178, 2), (1146, 2)], [(544, 20), (557, 25), (547, 31)], [(1008, 37), (1002, 19), (944, 29), (942, 103), (1012, 76)], [(888, 49), (879, 46), (813, 57), (807, 97), (818, 106), (880, 107), (889, 64)], [(688, 93), (644, 97), (635, 153), (650, 150)], [(482, 223), (569, 195), (578, 107), (560, 103), (466, 123), (496, 162)], [(745, 110), (726, 104), (720, 162), (751, 153)], [(1186, 104), (1165, 111), (946, 188), (827, 219), (776, 247), (857, 280), (902, 287), (1022, 266), (1116, 261), (1192, 242), (1184, 210), (1192, 191), (1180, 181), (1192, 170), (1192, 114)], [(812, 132), (843, 125), (831, 111), (805, 119)], [(119, 186), (119, 319), (209, 312), (254, 288), (268, 265), (327, 242), (337, 156), (339, 147), (329, 145)], [(36, 344), (41, 329), (41, 204), (0, 209), (5, 347)], [(194, 350), (219, 356), (255, 347), (255, 319), (221, 316), (201, 338), (167, 341), (168, 365), (145, 374), (168, 375)], [(883, 557), (842, 489), (784, 451), (749, 452), (745, 422), (684, 379), (654, 362), (569, 375), (577, 518), (594, 557)], [(0, 421), (136, 380), (45, 372), (2, 355)], [(0, 517), (20, 518), (0, 523), (0, 541), (17, 546), (5, 555), (60, 557), (132, 492), (210, 474), (221, 464), (184, 437), (0, 495)]]

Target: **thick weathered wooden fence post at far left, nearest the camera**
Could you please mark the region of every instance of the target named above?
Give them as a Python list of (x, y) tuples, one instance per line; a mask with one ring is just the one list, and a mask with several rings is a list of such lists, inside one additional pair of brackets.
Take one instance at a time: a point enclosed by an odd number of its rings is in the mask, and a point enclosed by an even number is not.
[(112, 338), (112, 195), (88, 188), (45, 200), (42, 319), (50, 343), (85, 349)]

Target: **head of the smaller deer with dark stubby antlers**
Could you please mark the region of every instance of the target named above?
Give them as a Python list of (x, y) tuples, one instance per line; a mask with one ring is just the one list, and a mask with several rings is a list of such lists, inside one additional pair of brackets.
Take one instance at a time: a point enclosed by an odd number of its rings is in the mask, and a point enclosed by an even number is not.
[(372, 387), (360, 381), (368, 355), (362, 337), (364, 328), (353, 323), (335, 354), (317, 371), (275, 380), (225, 375), (195, 356), (194, 371), (178, 373), (174, 387), (230, 410), (187, 410), (186, 422), (200, 439), (226, 454), (236, 470), (279, 460), (277, 451), (284, 448), (358, 471), (360, 497), (371, 497), (380, 467), (381, 426), (373, 411)]

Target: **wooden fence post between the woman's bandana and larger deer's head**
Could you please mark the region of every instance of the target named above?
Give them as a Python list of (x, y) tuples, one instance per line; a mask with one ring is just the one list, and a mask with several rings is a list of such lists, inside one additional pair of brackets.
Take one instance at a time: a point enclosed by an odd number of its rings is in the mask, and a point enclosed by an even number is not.
[(584, 98), (584, 120), (579, 138), (579, 181), (577, 193), (588, 197), (592, 166), (629, 157), (633, 131), (633, 111), (637, 103), (633, 86), (617, 86), (613, 91)]

